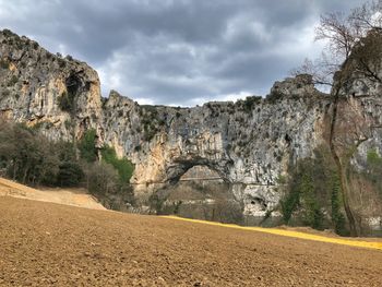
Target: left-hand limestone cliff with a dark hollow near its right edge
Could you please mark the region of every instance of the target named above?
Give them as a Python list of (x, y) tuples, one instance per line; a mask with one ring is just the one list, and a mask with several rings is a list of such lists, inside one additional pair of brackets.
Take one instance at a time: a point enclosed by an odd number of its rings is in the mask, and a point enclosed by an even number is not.
[[(52, 140), (71, 140), (97, 128), (102, 105), (96, 71), (10, 31), (0, 33), (0, 117), (38, 124)], [(63, 95), (72, 97), (71, 110), (60, 108)]]

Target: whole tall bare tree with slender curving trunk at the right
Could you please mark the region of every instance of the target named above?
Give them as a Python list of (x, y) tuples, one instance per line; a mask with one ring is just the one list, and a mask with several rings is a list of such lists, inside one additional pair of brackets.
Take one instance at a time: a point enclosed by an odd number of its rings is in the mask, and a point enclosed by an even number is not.
[[(356, 132), (348, 133), (348, 127), (343, 127), (341, 123), (343, 119), (339, 112), (344, 103), (347, 101), (344, 97), (344, 87), (348, 86), (350, 81), (358, 79), (367, 80), (369, 83), (382, 83), (379, 76), (382, 69), (381, 61), (375, 61), (375, 59), (382, 59), (382, 0), (356, 8), (349, 15), (343, 13), (322, 15), (315, 35), (315, 40), (327, 41), (321, 58), (314, 61), (306, 60), (293, 73), (310, 73), (315, 84), (332, 87), (333, 105), (329, 142), (341, 179), (342, 198), (350, 234), (358, 236), (359, 228), (357, 229), (349, 203), (348, 167), (357, 147), (369, 139), (371, 131), (370, 124), (366, 127), (365, 120), (360, 119), (359, 125), (365, 129), (357, 127)], [(351, 121), (355, 122), (355, 119)]]

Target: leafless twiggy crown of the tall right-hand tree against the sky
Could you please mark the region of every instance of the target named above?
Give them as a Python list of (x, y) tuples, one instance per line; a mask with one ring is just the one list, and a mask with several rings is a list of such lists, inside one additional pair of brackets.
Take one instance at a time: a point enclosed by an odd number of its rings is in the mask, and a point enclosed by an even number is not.
[[(355, 8), (349, 15), (339, 12), (321, 15), (314, 40), (324, 40), (327, 45), (318, 59), (306, 59), (291, 74), (311, 74), (315, 84), (332, 86), (334, 74), (351, 57), (355, 47), (366, 46), (365, 40), (371, 32), (382, 33), (382, 0)], [(370, 40), (368, 46), (370, 47)], [(371, 58), (370, 52), (372, 53), (372, 49), (363, 53), (358, 52), (358, 56)], [(375, 69), (369, 67), (370, 61), (368, 65), (367, 62), (363, 61), (363, 67), (360, 65), (361, 69), (358, 70), (366, 76), (374, 76), (371, 71)]]

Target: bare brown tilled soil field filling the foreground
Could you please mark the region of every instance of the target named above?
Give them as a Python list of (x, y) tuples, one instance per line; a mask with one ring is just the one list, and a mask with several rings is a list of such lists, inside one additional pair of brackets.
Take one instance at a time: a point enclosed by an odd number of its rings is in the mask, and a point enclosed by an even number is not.
[(382, 286), (382, 252), (0, 198), (0, 286)]

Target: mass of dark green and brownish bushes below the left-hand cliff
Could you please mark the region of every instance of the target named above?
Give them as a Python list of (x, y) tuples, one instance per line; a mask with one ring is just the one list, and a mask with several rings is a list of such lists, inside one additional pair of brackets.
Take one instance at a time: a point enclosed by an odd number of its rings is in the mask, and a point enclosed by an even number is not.
[(118, 159), (111, 147), (103, 148), (98, 162), (95, 141), (95, 130), (86, 131), (76, 147), (51, 142), (38, 129), (0, 122), (0, 175), (29, 186), (84, 187), (107, 207), (126, 208), (134, 203), (133, 165)]

